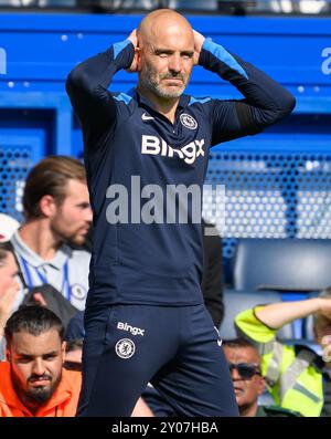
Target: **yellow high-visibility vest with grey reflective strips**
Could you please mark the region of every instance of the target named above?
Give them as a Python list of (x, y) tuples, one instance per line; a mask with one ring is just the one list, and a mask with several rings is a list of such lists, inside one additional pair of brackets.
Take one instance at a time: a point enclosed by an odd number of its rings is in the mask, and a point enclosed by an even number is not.
[(313, 364), (318, 355), (305, 346), (280, 343), (277, 331), (256, 317), (255, 311), (260, 307), (239, 313), (235, 325), (258, 348), (261, 373), (275, 404), (303, 416), (320, 416), (324, 400), (323, 376)]

